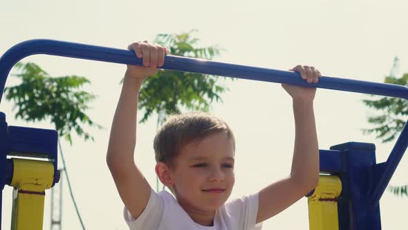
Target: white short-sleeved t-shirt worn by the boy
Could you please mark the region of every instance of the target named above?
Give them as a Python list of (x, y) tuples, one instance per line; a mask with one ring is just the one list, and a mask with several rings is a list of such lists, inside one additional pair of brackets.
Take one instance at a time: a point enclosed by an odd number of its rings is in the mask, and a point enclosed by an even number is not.
[(214, 217), (214, 226), (197, 224), (174, 199), (173, 195), (151, 190), (145, 210), (135, 220), (124, 207), (124, 220), (131, 230), (259, 230), (255, 224), (258, 213), (258, 193), (223, 204)]

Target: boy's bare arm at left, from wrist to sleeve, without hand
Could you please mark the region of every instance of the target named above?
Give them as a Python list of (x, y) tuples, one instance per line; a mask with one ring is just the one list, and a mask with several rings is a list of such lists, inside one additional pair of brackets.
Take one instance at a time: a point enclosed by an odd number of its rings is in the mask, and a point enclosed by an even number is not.
[(151, 188), (135, 164), (136, 112), (142, 80), (125, 76), (122, 93), (111, 127), (106, 162), (120, 198), (133, 218), (138, 218), (149, 201)]

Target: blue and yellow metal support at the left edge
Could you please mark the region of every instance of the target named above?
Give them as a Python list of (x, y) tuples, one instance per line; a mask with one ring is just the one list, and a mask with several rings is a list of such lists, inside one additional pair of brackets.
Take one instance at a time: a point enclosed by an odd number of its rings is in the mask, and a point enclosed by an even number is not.
[(12, 229), (42, 229), (44, 191), (59, 181), (57, 138), (55, 130), (9, 126), (0, 112), (0, 188), (3, 191), (6, 184), (15, 188)]

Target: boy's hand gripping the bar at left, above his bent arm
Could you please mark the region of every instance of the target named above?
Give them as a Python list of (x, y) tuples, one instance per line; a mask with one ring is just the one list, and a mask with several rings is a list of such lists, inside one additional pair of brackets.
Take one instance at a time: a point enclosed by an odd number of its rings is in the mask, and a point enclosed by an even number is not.
[(146, 40), (134, 42), (127, 48), (135, 52), (137, 57), (143, 58), (143, 67), (128, 64), (125, 77), (141, 78), (142, 80), (156, 74), (158, 71), (156, 67), (163, 67), (165, 55), (168, 53), (167, 48), (159, 44), (149, 44)]

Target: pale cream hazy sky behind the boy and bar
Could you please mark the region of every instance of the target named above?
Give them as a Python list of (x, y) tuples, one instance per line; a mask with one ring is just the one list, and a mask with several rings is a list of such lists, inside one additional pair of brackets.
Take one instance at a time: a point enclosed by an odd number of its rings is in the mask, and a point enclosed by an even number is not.
[[(159, 33), (192, 29), (201, 46), (219, 45), (214, 60), (254, 67), (288, 70), (297, 64), (319, 69), (323, 76), (383, 82), (398, 56), (399, 76), (408, 72), (408, 2), (389, 1), (0, 1), (0, 55), (28, 39), (47, 38), (113, 48), (152, 41)], [(113, 112), (125, 66), (67, 57), (34, 55), (51, 76), (78, 75), (91, 80), (86, 90), (98, 95), (89, 115), (104, 129), (89, 129), (95, 141), (75, 137), (62, 141), (73, 193), (86, 229), (127, 229), (123, 204), (106, 166), (106, 149)], [(9, 77), (6, 86), (17, 84)], [(279, 84), (251, 80), (223, 81), (230, 90), (211, 113), (232, 127), (237, 140), (236, 184), (231, 197), (256, 193), (286, 177), (293, 155), (294, 121), (291, 98)], [(385, 161), (394, 142), (381, 143), (363, 135), (375, 112), (362, 103), (369, 95), (318, 89), (315, 118), (319, 148), (358, 141), (374, 143), (378, 162)], [(25, 123), (14, 118), (4, 98), (0, 111), (8, 125), (53, 128), (48, 121)], [(136, 163), (156, 187), (153, 139), (156, 116), (138, 125)], [(61, 165), (59, 165), (61, 166)], [(405, 156), (390, 184), (408, 182)], [(64, 180), (63, 229), (81, 229)], [(1, 229), (10, 229), (10, 187), (3, 190)], [(407, 226), (407, 197), (384, 193), (380, 201), (383, 229)], [(50, 227), (47, 192), (44, 229)], [(263, 229), (308, 229), (307, 199), (267, 220)]]

